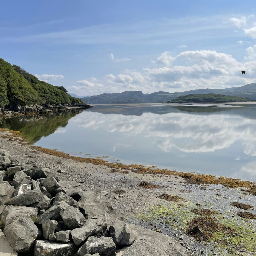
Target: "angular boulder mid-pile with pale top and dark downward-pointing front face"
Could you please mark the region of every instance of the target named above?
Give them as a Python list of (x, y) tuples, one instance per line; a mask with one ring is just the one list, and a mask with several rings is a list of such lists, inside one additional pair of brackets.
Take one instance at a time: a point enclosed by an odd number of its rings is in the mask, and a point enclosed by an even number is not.
[(70, 228), (76, 228), (82, 221), (84, 221), (84, 216), (73, 206), (68, 206), (65, 210), (60, 211), (60, 215), (64, 223)]

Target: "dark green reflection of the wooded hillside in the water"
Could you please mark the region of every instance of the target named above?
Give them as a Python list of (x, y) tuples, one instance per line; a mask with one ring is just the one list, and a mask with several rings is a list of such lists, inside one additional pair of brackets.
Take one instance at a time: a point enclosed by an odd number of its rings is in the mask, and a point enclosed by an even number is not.
[(65, 127), (68, 120), (83, 110), (71, 109), (53, 111), (47, 114), (22, 115), (14, 118), (0, 118), (0, 127), (20, 131), (28, 143), (35, 143), (42, 136), (47, 137), (58, 127)]

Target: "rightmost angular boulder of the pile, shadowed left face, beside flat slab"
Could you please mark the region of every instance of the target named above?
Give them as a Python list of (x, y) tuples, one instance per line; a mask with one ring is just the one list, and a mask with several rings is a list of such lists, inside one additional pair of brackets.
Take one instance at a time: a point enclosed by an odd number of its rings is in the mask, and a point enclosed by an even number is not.
[(109, 232), (115, 244), (118, 245), (130, 245), (137, 238), (125, 222), (118, 219), (115, 219), (113, 224), (109, 227)]

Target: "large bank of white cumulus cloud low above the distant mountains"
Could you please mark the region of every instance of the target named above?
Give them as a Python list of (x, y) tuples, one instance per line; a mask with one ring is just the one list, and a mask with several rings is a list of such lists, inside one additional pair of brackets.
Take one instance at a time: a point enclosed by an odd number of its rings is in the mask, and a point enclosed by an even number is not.
[[(156, 58), (157, 67), (142, 70), (125, 69), (118, 74), (107, 74), (102, 79), (77, 81), (79, 94), (113, 93), (141, 90), (144, 93), (157, 91), (177, 92), (202, 88), (228, 88), (255, 82), (256, 47), (245, 50), (243, 61), (230, 54), (215, 50), (182, 51), (172, 55), (164, 51)], [(246, 76), (241, 76), (246, 70)], [(103, 86), (104, 85), (104, 86)]]

